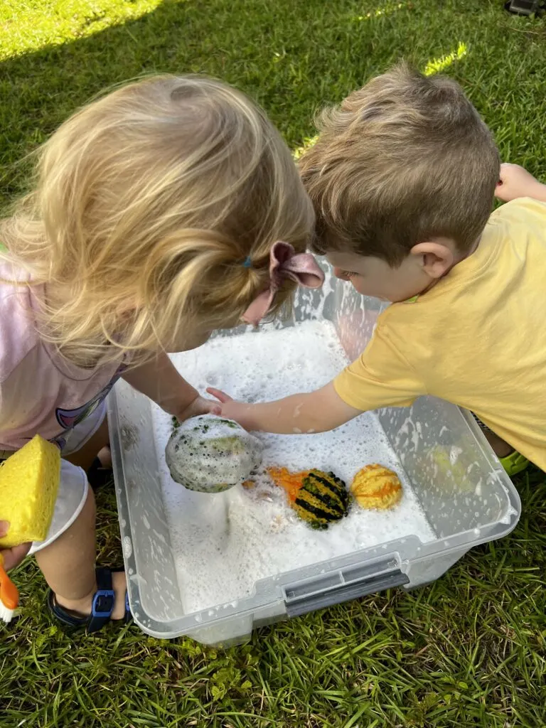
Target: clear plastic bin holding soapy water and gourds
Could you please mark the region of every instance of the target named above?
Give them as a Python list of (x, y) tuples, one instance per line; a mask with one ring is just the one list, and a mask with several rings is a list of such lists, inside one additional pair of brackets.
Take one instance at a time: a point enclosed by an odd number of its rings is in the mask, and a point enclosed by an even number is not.
[[(293, 321), (331, 320), (349, 357), (371, 336), (382, 306), (328, 277), (323, 290), (301, 290)], [(292, 325), (292, 322), (277, 324)], [(221, 336), (259, 336), (247, 329)], [(389, 587), (438, 579), (475, 545), (513, 530), (521, 503), (472, 416), (433, 397), (379, 413), (436, 539), (385, 542), (261, 579), (252, 596), (184, 614), (170, 547), (151, 404), (124, 381), (108, 400), (111, 447), (129, 598), (135, 622), (155, 637), (191, 636), (205, 644), (243, 641), (253, 628)]]

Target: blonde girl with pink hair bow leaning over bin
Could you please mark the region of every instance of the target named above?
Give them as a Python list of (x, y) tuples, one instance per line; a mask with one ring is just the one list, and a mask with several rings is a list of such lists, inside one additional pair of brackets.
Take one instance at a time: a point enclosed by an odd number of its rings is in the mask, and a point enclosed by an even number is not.
[[(277, 130), (212, 79), (119, 88), (39, 150), (33, 191), (0, 223), (0, 457), (36, 433), (63, 452), (50, 534), (32, 547), (61, 622), (129, 614), (124, 573), (95, 570), (85, 474), (108, 442), (109, 389), (122, 376), (178, 419), (214, 411), (166, 352), (320, 285), (313, 223)], [(4, 551), (7, 565), (27, 550)]]

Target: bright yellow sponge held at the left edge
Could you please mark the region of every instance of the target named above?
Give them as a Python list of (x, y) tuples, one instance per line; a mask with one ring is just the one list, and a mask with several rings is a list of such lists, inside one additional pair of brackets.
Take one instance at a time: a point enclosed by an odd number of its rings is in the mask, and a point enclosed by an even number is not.
[(0, 465), (0, 520), (10, 523), (0, 548), (44, 541), (59, 480), (59, 448), (39, 435)]

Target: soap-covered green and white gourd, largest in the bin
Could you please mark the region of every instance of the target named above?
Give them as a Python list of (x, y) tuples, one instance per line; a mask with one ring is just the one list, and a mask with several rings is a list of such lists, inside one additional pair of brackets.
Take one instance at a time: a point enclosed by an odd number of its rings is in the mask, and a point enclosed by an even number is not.
[(220, 493), (261, 464), (261, 441), (231, 419), (201, 415), (175, 424), (165, 448), (170, 475), (191, 491)]

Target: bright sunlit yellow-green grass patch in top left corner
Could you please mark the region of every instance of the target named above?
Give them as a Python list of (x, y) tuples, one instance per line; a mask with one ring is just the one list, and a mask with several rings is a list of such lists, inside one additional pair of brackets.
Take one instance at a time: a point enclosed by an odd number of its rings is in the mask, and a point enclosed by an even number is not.
[(156, 9), (162, 0), (40, 0), (0, 3), (0, 60), (90, 36)]

